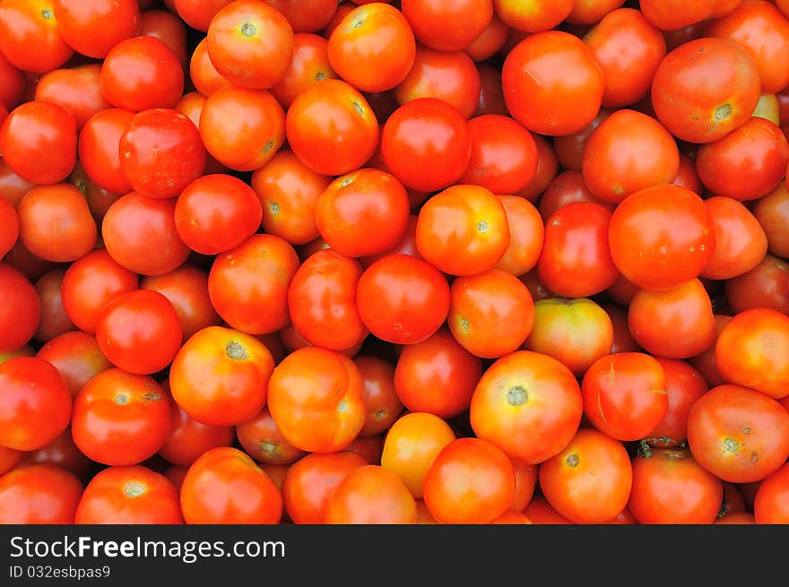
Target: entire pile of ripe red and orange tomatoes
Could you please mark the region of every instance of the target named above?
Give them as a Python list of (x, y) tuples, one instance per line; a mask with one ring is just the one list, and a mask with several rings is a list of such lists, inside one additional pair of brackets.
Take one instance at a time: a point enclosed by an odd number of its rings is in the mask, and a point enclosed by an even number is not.
[(0, 0), (0, 522), (789, 522), (786, 0)]

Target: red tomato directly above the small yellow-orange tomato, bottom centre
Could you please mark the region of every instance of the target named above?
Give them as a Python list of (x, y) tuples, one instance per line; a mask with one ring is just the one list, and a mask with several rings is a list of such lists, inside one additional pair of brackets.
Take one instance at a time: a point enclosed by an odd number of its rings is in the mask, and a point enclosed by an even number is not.
[(474, 357), (442, 328), (403, 347), (395, 367), (395, 391), (410, 411), (447, 419), (467, 410), (482, 375)]

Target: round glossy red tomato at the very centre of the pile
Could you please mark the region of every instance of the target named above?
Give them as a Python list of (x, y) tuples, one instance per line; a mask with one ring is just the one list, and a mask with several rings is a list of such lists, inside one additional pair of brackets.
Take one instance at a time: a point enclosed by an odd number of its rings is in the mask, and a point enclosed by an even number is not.
[(361, 321), (377, 338), (395, 344), (421, 342), (447, 318), (449, 284), (421, 259), (386, 255), (362, 273), (356, 306)]

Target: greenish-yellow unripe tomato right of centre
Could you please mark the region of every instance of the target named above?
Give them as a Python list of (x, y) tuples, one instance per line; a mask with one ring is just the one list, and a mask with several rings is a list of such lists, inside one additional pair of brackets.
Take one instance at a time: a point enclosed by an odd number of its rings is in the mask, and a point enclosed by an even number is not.
[(534, 324), (524, 349), (556, 358), (576, 376), (611, 352), (613, 325), (591, 299), (546, 298), (534, 304)]

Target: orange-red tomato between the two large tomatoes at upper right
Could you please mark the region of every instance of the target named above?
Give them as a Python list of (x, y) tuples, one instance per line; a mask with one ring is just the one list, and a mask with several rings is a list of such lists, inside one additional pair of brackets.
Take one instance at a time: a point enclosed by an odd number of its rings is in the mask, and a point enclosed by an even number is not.
[(621, 108), (645, 98), (666, 55), (661, 31), (633, 8), (607, 13), (586, 33), (584, 42), (603, 70), (605, 108)]

